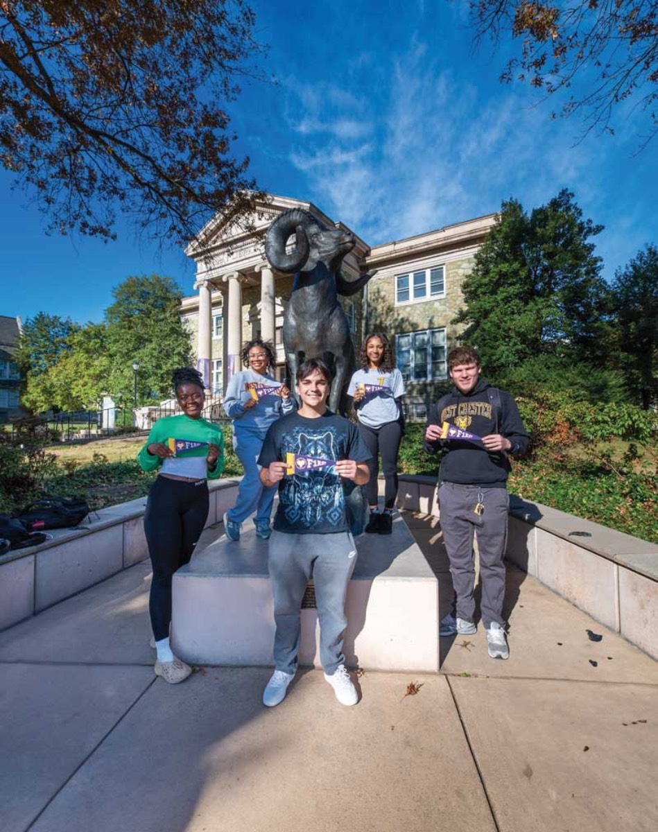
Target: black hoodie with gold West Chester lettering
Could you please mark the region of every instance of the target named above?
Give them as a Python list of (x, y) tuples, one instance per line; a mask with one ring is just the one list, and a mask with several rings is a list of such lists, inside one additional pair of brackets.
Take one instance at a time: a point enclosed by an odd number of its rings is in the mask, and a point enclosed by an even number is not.
[[(428, 424), (442, 425), (443, 422), (448, 422), (482, 437), (490, 433), (502, 433), (512, 443), (510, 453), (523, 453), (530, 437), (523, 427), (517, 403), (510, 394), (500, 390), (501, 407), (498, 410), (489, 399), (488, 389), (489, 384), (482, 379), (478, 379), (468, 394), (460, 393), (453, 387), (447, 398), (439, 400), (441, 413), (438, 413), (437, 404), (430, 405)], [(481, 442), (464, 439), (438, 439), (436, 442), (424, 439), (423, 448), (429, 453), (443, 448), (443, 458), (438, 469), (438, 478), (442, 482), (482, 488), (506, 486), (510, 471), (507, 453), (489, 452)]]

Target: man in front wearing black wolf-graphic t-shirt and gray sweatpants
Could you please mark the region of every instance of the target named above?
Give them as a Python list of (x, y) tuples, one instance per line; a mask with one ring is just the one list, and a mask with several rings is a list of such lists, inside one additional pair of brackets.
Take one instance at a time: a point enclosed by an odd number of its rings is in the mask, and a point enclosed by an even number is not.
[(345, 497), (368, 482), (370, 453), (354, 424), (327, 409), (330, 384), (329, 368), (320, 359), (299, 366), (301, 406), (270, 426), (258, 458), (261, 482), (279, 483), (269, 543), (276, 670), (263, 702), (270, 707), (284, 700), (297, 670), (301, 602), (311, 574), (324, 678), (342, 705), (358, 700), (343, 653), (345, 596), (356, 562)]

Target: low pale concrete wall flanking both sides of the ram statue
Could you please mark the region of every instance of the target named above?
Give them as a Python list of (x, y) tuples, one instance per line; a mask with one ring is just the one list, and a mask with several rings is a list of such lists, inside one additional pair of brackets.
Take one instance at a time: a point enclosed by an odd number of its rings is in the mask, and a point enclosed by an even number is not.
[[(237, 485), (210, 483), (208, 526), (235, 503)], [(145, 507), (140, 498), (103, 509), (85, 527), (0, 558), (0, 629), (144, 560)], [(398, 507), (438, 517), (436, 481), (401, 476)], [(510, 561), (658, 658), (656, 544), (514, 497), (510, 515)]]

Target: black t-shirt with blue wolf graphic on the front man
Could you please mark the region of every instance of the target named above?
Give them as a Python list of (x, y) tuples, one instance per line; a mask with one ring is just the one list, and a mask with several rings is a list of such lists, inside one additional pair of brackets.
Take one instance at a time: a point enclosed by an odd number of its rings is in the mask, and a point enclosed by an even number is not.
[(258, 464), (287, 462), (279, 483), (274, 528), (289, 534), (348, 532), (345, 497), (355, 484), (336, 471), (339, 459), (364, 463), (371, 457), (356, 426), (327, 410), (307, 418), (289, 414), (268, 429)]

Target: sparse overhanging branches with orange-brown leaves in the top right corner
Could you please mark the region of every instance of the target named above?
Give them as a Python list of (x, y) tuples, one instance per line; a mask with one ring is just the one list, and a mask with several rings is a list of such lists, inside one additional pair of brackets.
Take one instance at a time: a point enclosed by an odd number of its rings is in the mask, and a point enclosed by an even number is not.
[(635, 98), (646, 115), (646, 141), (658, 129), (656, 0), (469, 0), (476, 39), (512, 37), (517, 51), (503, 82), (527, 82), (562, 94), (563, 116), (580, 113), (586, 129), (612, 132), (616, 106)]

